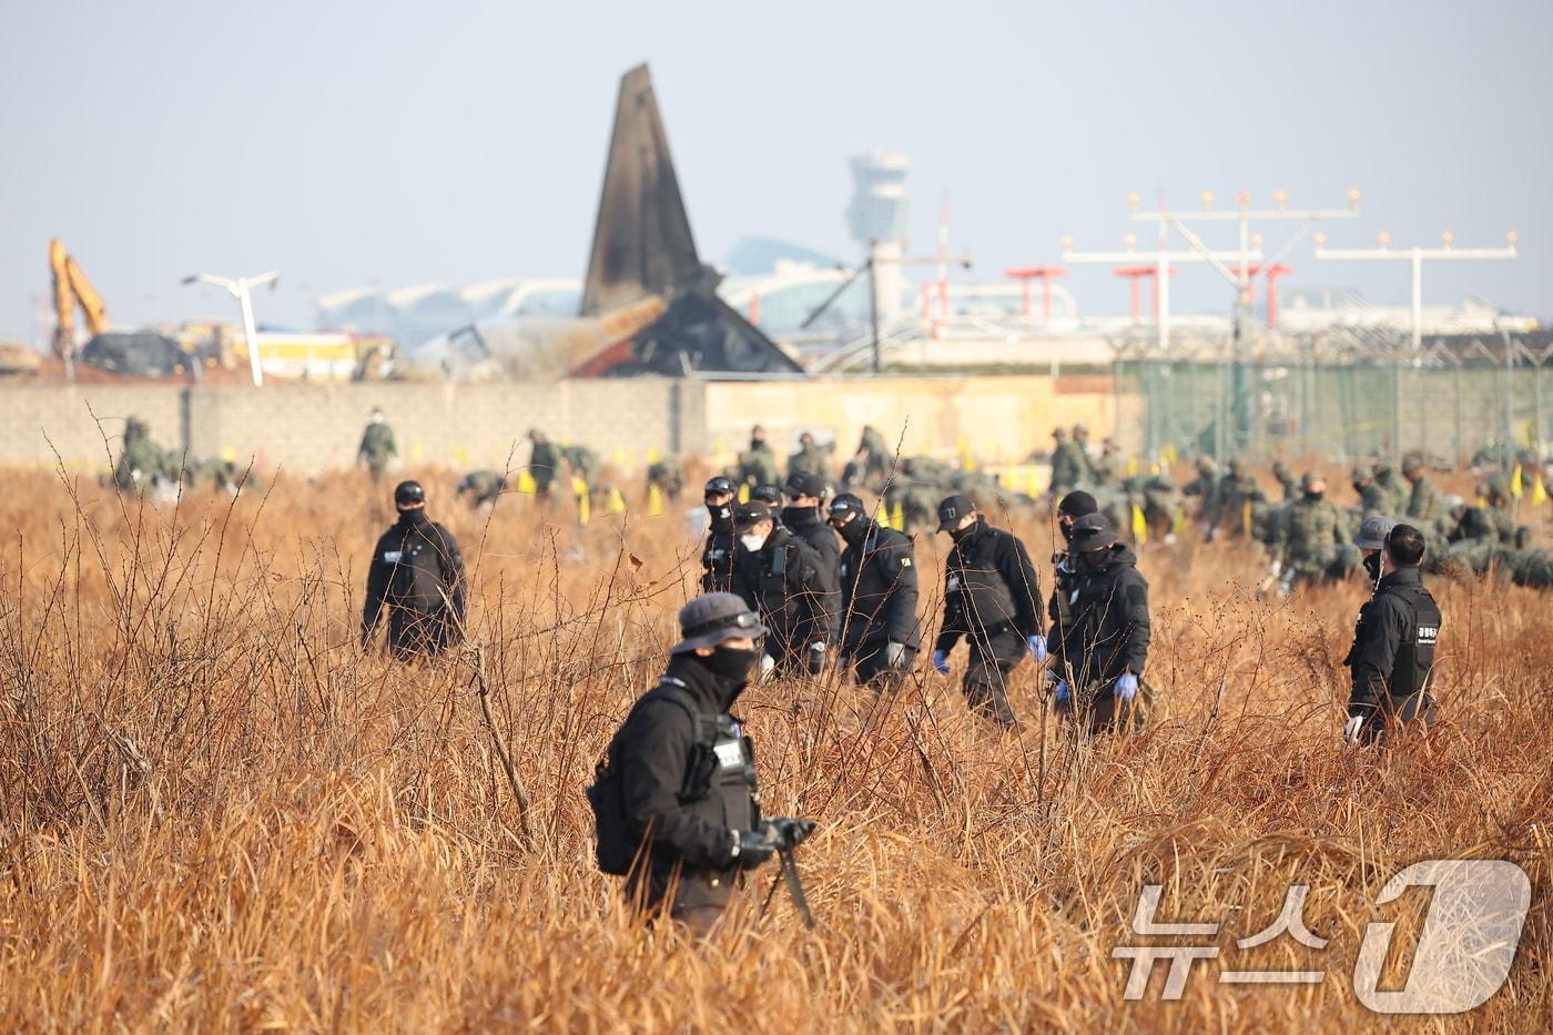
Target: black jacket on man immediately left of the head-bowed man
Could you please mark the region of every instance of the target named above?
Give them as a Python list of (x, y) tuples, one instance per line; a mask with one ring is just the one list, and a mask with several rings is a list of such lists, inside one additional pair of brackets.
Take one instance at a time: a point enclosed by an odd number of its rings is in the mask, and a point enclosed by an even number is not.
[(862, 514), (867, 528), (859, 542), (842, 552), (842, 651), (862, 643), (922, 643), (916, 619), (916, 558), (912, 538), (881, 528)]

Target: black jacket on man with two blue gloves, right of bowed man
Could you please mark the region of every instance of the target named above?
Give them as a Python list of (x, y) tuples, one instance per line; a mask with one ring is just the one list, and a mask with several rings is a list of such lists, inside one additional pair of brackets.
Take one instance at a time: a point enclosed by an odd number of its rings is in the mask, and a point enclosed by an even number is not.
[(1095, 566), (1078, 561), (1068, 619), (1048, 640), (1058, 674), (1079, 687), (1141, 676), (1149, 656), (1149, 584), (1138, 558), (1121, 542), (1100, 553)]

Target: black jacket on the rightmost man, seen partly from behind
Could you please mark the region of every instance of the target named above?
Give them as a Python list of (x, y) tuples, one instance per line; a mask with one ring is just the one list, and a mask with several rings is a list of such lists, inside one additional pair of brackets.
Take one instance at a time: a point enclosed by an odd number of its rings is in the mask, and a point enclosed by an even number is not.
[(1387, 693), (1399, 701), (1424, 690), (1438, 637), (1440, 606), (1419, 570), (1404, 567), (1382, 578), (1359, 609), (1354, 645), (1343, 659), (1353, 671), (1348, 713), (1370, 715)]

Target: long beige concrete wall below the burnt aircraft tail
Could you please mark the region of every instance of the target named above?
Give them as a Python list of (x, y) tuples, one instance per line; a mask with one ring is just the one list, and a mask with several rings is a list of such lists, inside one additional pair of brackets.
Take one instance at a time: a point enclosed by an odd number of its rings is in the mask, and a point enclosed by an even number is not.
[[(988, 460), (1045, 449), (1054, 424), (1115, 427), (1109, 376), (856, 378), (707, 382), (662, 378), (512, 384), (346, 385), (0, 385), (0, 466), (106, 468), (124, 418), (135, 415), (169, 449), (191, 457), (255, 457), (264, 469), (312, 472), (354, 463), (362, 427), (380, 406), (405, 463), (503, 468), (528, 460), (530, 427), (585, 443), (637, 466), (646, 451), (714, 455), (742, 448), (764, 424), (778, 452), (800, 430), (836, 438), (837, 455), (873, 424), (904, 451)], [(1123, 396), (1123, 406), (1135, 396)], [(104, 438), (107, 444), (104, 444)], [(517, 443), (516, 452), (512, 446)], [(56, 455), (57, 451), (57, 455)]]

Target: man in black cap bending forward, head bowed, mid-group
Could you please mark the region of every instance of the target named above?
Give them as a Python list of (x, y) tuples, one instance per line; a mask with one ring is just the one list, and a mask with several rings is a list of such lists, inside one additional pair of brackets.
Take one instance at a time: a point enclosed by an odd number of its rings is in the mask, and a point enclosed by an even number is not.
[(1041, 583), (1025, 544), (986, 524), (966, 496), (938, 504), (938, 530), (955, 541), (944, 561), (944, 620), (933, 668), (949, 674), (949, 651), (971, 643), (964, 695), (971, 710), (1000, 726), (1017, 726), (1008, 704), (1008, 674), (1028, 653), (1047, 659), (1041, 628)]

